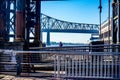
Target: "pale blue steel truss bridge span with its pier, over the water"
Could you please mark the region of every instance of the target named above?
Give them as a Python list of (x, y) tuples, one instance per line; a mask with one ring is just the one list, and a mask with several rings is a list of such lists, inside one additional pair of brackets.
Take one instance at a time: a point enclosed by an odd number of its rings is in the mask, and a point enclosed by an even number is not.
[(99, 25), (86, 23), (73, 23), (58, 20), (41, 13), (42, 32), (47, 32), (47, 44), (50, 44), (50, 32), (60, 33), (99, 33)]

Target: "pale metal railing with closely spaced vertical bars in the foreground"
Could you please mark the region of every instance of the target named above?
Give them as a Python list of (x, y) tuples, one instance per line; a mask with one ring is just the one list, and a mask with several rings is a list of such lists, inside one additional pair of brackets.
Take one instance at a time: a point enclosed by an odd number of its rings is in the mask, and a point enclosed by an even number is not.
[(120, 53), (56, 54), (57, 78), (120, 79)]

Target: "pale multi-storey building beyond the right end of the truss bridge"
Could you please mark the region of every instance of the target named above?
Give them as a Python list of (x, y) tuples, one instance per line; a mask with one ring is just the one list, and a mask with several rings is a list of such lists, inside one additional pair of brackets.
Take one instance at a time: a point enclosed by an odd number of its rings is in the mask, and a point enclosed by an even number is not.
[[(110, 21), (110, 25), (109, 25)], [(106, 20), (101, 24), (101, 30), (99, 31), (100, 34), (100, 41), (103, 41), (104, 44), (111, 44), (112, 43), (112, 36), (111, 36), (111, 19)]]

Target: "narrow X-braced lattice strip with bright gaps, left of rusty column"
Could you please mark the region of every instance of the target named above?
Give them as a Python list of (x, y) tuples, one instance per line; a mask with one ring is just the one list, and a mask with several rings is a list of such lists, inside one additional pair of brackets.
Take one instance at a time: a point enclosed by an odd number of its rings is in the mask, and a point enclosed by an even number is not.
[(7, 22), (6, 22), (6, 27), (7, 27), (7, 33), (8, 33), (8, 40), (10, 38), (15, 39), (15, 11), (16, 11), (16, 0), (6, 0), (7, 3), (7, 8), (6, 8), (6, 14), (7, 14)]

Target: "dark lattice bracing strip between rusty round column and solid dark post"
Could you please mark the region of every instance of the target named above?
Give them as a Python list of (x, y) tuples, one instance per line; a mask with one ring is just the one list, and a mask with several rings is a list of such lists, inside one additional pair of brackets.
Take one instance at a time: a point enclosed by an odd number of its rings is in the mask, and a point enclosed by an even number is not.
[(26, 40), (29, 42), (30, 40), (35, 39), (35, 25), (36, 25), (36, 2), (30, 0), (27, 4), (26, 8)]

